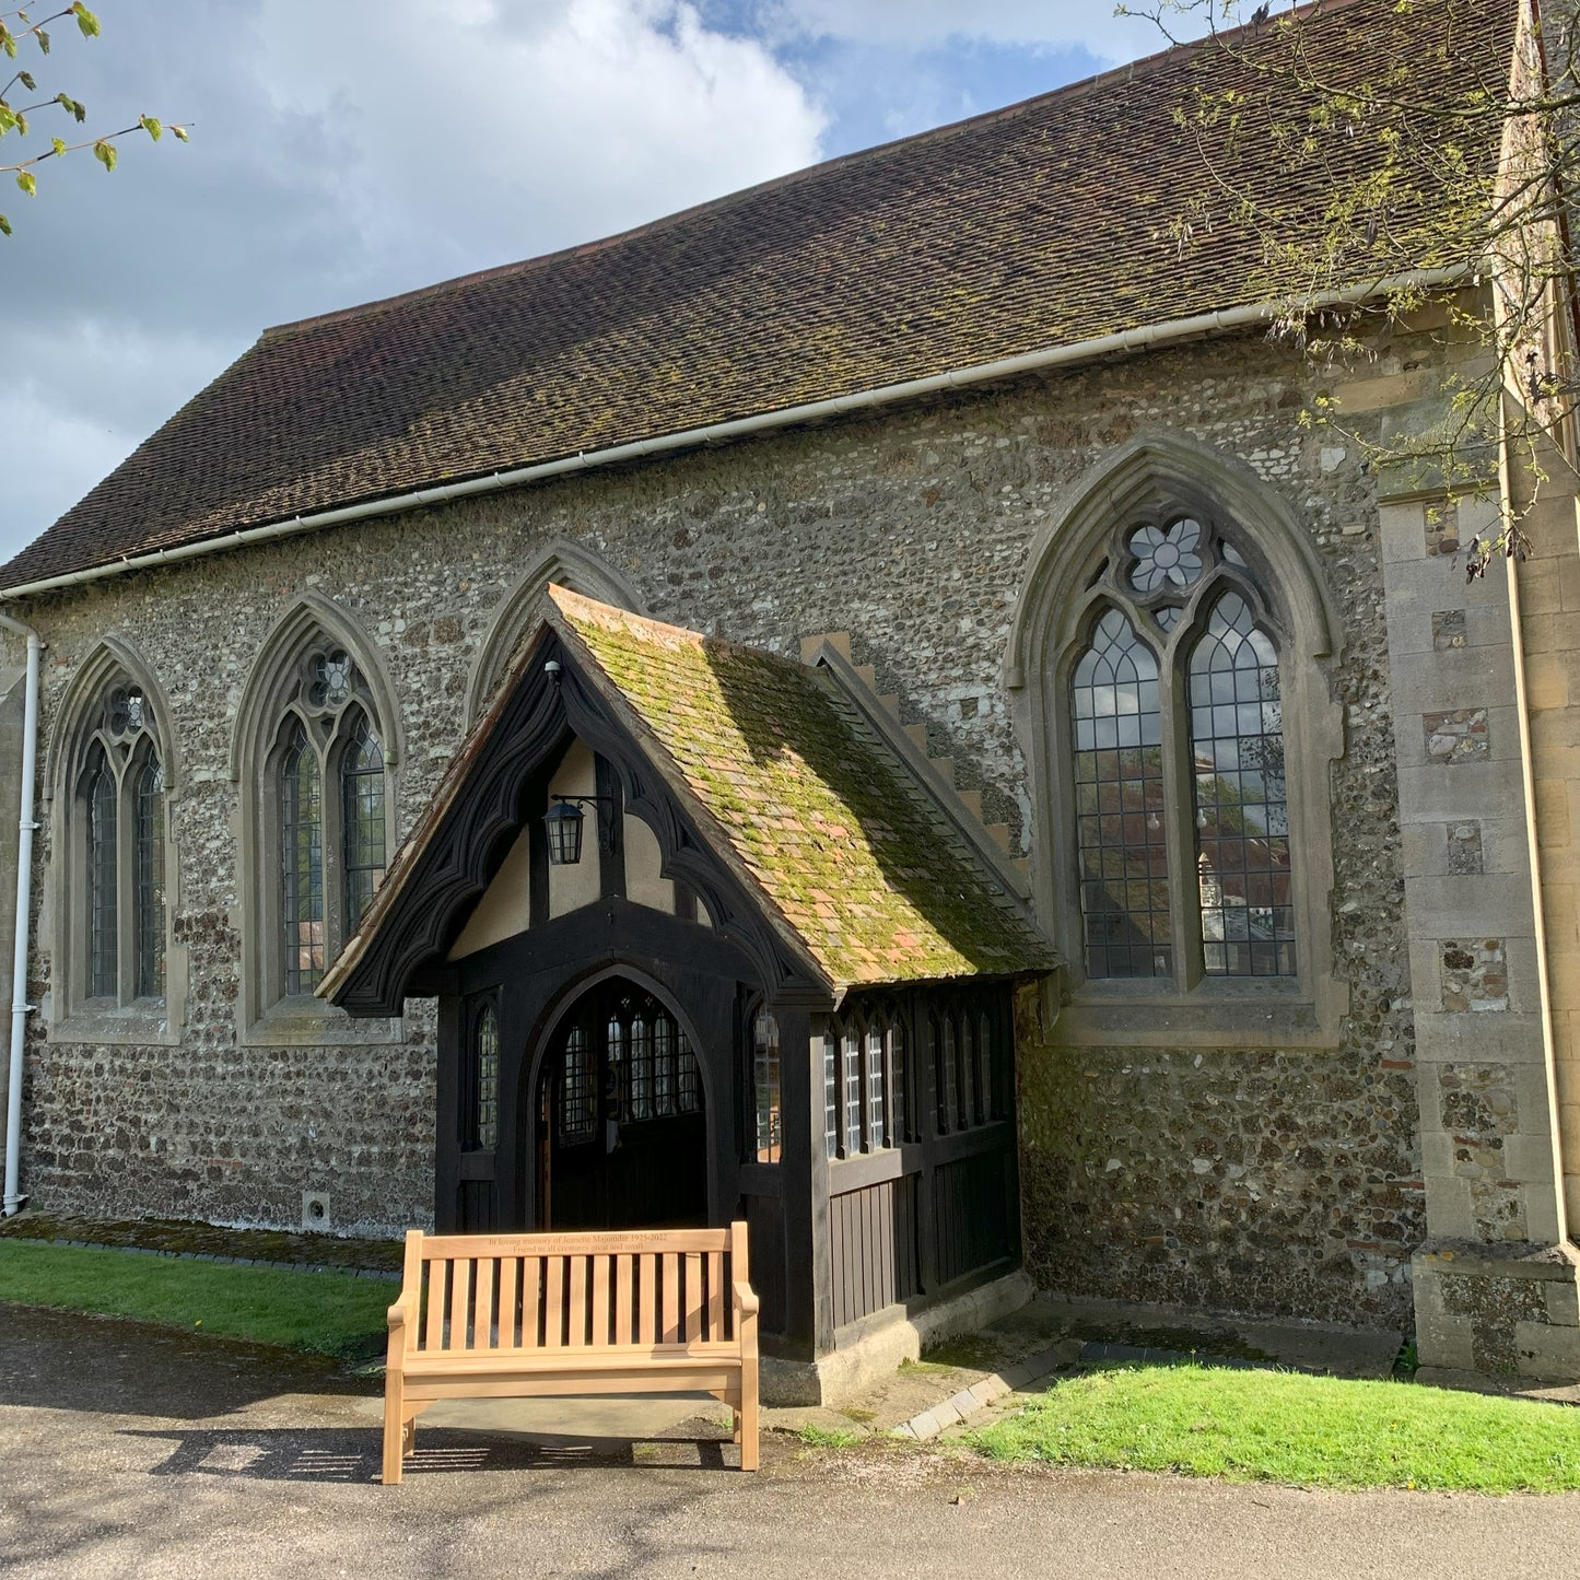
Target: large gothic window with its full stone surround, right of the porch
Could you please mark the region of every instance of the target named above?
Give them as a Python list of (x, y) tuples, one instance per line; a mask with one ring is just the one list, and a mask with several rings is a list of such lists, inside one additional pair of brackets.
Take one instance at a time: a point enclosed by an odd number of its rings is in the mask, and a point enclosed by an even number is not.
[[(1005, 683), (1070, 1044), (1337, 1046), (1345, 623), (1310, 509), (1221, 449), (1150, 433), (1032, 548)], [(984, 1079), (997, 1104), (1005, 1073)]]

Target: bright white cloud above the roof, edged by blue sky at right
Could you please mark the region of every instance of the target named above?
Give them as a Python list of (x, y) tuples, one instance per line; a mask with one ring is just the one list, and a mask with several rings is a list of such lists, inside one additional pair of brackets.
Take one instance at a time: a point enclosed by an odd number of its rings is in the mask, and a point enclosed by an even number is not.
[[(281, 107), (329, 128), (363, 246), (411, 284), (589, 240), (812, 163), (768, 49), (664, 0), (265, 0)], [(307, 58), (291, 40), (311, 25)]]

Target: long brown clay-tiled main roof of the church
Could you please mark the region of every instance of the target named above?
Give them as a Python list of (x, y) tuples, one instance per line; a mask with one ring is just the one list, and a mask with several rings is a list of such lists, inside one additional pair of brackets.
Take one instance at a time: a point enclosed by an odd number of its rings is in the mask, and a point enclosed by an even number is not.
[[(1428, 96), (1506, 81), (1515, 0), (1299, 16), (1329, 84), (1408, 58), (1405, 96)], [(1286, 58), (1281, 36), (1266, 27), (1243, 52)], [(1239, 95), (1204, 149), (1176, 118), (1198, 93)], [(1313, 239), (1334, 177), (1316, 160), (1291, 172), (1270, 133), (1310, 107), (1283, 76), (1179, 47), (607, 242), (272, 329), (0, 569), (0, 589), (1267, 300), (1296, 281), (1269, 278), (1209, 164)], [(1495, 128), (1480, 141), (1492, 160)], [(1376, 156), (1371, 134), (1338, 155)], [(1199, 198), (1218, 223), (1180, 250), (1169, 221)], [(1389, 216), (1420, 237), (1419, 267), (1465, 261), (1443, 218), (1408, 198)]]

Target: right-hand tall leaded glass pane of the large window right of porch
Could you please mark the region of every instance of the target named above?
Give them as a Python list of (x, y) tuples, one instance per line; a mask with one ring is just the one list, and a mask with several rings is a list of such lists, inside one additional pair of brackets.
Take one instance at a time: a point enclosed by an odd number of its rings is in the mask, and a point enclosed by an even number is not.
[(1292, 976), (1278, 653), (1239, 592), (1218, 599), (1191, 649), (1190, 725), (1204, 969)]

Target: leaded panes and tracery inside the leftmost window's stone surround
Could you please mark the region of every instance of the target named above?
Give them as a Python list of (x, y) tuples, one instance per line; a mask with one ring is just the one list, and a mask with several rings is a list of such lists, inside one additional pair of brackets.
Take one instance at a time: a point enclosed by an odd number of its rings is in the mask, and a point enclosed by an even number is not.
[(117, 678), (87, 720), (74, 790), (70, 907), (81, 926), (65, 976), (76, 1003), (118, 1008), (166, 992), (166, 793), (155, 714)]

